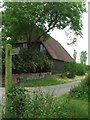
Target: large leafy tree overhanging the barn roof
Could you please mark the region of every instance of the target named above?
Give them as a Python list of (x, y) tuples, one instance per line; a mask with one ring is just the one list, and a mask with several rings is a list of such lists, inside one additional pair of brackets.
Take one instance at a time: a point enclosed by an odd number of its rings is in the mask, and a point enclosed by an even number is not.
[[(54, 28), (67, 26), (76, 35), (82, 35), (84, 2), (7, 2), (3, 11), (3, 40), (37, 41), (47, 39)], [(10, 41), (10, 40), (9, 40)], [(10, 41), (10, 42), (11, 42)]]

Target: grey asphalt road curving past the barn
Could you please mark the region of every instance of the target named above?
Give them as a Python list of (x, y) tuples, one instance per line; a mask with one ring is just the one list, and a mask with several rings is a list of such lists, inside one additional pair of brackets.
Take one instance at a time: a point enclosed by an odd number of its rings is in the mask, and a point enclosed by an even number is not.
[[(27, 87), (28, 91), (33, 91), (33, 90), (41, 90), (44, 92), (49, 92), (57, 96), (57, 95), (63, 95), (67, 92), (70, 91), (71, 88), (74, 86), (78, 85), (80, 81), (76, 82), (70, 82), (70, 83), (65, 83), (65, 84), (60, 84), (60, 85), (53, 85), (53, 86), (46, 86), (46, 87)], [(0, 101), (3, 100), (5, 94), (5, 88), (0, 88)]]

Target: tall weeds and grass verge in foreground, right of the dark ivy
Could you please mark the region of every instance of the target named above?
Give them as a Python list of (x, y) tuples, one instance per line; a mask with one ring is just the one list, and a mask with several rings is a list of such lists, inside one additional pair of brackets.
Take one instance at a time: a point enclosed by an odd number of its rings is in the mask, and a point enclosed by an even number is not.
[(58, 118), (88, 118), (88, 101), (70, 98), (69, 93), (55, 97), (42, 92), (34, 92), (32, 97), (28, 96), (28, 100), (29, 103), (26, 103), (25, 109), (26, 117), (28, 115), (33, 118), (35, 115), (37, 118), (56, 116)]

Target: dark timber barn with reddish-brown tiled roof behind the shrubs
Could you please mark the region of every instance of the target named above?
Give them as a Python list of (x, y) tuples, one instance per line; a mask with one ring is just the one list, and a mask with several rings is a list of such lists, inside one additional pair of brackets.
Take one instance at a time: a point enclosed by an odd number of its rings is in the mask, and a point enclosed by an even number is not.
[[(39, 41), (34, 44), (31, 42), (34, 49), (38, 49), (43, 54), (47, 55), (50, 60), (53, 62), (52, 72), (63, 72), (64, 63), (73, 61), (73, 58), (70, 54), (62, 47), (62, 45), (56, 41), (54, 38), (50, 37), (47, 41)], [(15, 43), (14, 47), (27, 48), (27, 42), (18, 41)]]

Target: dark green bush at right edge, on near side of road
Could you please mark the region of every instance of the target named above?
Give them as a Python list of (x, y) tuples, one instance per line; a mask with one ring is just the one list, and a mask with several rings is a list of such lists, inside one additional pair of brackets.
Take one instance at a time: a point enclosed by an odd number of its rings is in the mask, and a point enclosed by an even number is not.
[(89, 87), (90, 73), (78, 86), (75, 86), (70, 91), (70, 96), (79, 99), (88, 99), (88, 87)]

